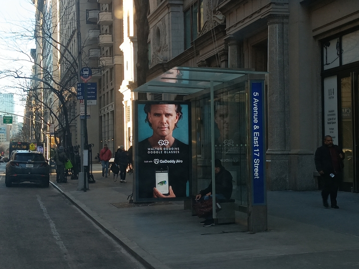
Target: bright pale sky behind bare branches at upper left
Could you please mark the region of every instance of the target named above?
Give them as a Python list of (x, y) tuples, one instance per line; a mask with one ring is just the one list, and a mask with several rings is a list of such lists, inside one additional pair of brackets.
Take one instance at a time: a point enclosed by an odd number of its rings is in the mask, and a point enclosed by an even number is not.
[[(35, 7), (31, 0), (1, 0), (0, 8), (0, 73), (20, 69), (31, 74), (30, 49), (35, 48)], [(24, 81), (0, 76), (1, 93), (13, 93), (15, 114), (23, 115), (26, 93), (20, 88)], [(18, 117), (18, 121), (22, 119)]]

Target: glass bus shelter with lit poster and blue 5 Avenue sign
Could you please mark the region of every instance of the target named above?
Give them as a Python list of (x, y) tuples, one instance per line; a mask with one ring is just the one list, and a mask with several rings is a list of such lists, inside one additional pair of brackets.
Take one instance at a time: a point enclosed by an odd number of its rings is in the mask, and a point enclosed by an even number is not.
[[(181, 99), (184, 100), (134, 101), (134, 201), (189, 200), (212, 182), (212, 214), (219, 223), (214, 160), (220, 159), (232, 175), (231, 200), (237, 210), (247, 213), (248, 231), (266, 231), (266, 74), (236, 69), (175, 67), (134, 89), (134, 92), (171, 94), (172, 97), (183, 95)], [(152, 104), (174, 104), (176, 109), (181, 108), (181, 120), (177, 122), (174, 136), (177, 132), (178, 139), (175, 138), (184, 142), (172, 147), (174, 154), (182, 154), (180, 158), (169, 158), (161, 147), (149, 143), (144, 146), (144, 122), (149, 123), (146, 117)], [(167, 142), (159, 141), (160, 144)], [(174, 168), (176, 162), (181, 162), (182, 166)], [(149, 169), (144, 170), (144, 167)], [(185, 178), (182, 187), (179, 178)], [(173, 187), (166, 189), (166, 183)], [(154, 192), (152, 196), (154, 186), (164, 195)], [(143, 190), (146, 188), (145, 195)], [(170, 191), (175, 194), (170, 195)]]

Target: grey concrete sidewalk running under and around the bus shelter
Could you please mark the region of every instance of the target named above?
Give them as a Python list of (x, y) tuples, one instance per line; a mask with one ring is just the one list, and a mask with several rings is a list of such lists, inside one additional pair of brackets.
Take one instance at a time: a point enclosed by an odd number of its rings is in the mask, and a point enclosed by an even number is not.
[(326, 209), (319, 191), (268, 192), (268, 232), (249, 234), (240, 212), (236, 224), (205, 228), (183, 202), (131, 207), (132, 175), (120, 183), (93, 170), (86, 192), (50, 181), (148, 268), (359, 268), (359, 194), (339, 192), (340, 209)]

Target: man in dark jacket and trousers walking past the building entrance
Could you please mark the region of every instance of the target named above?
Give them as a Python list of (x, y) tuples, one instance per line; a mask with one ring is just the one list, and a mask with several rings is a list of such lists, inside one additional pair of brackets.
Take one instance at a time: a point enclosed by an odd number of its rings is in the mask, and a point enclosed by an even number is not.
[(323, 205), (328, 208), (328, 196), (331, 198), (331, 207), (338, 209), (337, 194), (340, 183), (343, 180), (343, 149), (333, 144), (330, 135), (324, 137), (324, 145), (317, 148), (314, 161), (317, 171), (324, 180), (322, 190)]

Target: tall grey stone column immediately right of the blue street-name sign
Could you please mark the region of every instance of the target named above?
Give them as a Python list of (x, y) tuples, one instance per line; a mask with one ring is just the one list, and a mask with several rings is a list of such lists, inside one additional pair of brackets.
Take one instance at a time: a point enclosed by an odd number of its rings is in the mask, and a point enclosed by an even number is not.
[(288, 17), (268, 19), (268, 150), (270, 190), (288, 189), (289, 79)]

